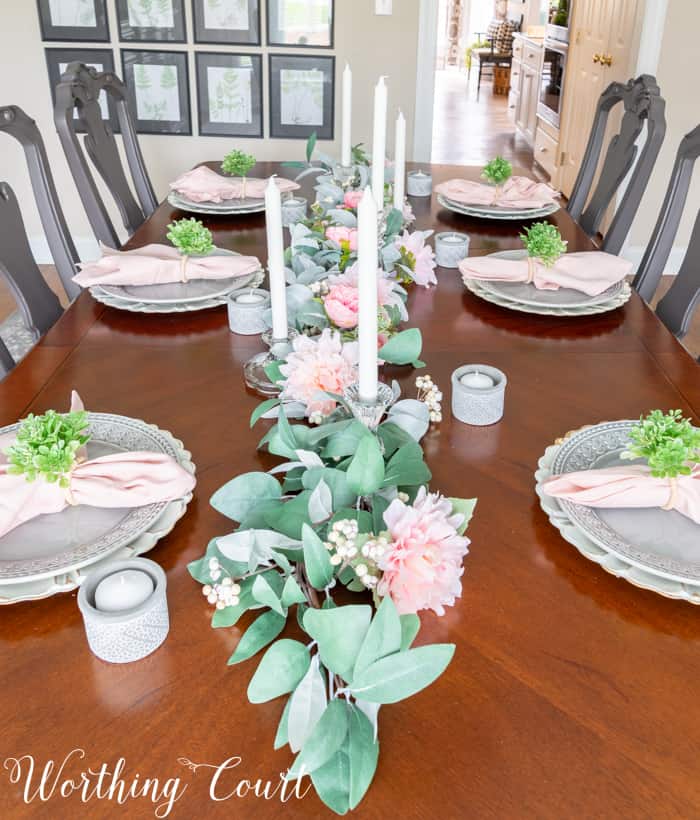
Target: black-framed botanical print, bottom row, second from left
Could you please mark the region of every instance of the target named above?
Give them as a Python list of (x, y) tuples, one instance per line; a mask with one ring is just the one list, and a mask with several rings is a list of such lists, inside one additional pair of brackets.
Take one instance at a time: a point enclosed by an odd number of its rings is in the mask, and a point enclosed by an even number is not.
[(187, 52), (122, 49), (122, 66), (139, 133), (192, 133)]

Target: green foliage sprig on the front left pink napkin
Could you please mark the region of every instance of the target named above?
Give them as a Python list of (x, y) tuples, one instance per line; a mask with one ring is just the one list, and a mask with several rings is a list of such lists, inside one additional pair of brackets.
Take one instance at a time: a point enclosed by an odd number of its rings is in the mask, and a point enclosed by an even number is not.
[(17, 438), (5, 454), (9, 473), (24, 474), (27, 481), (42, 478), (61, 487), (69, 486), (68, 474), (80, 447), (88, 442), (84, 410), (57, 413), (49, 410), (42, 416), (30, 415), (20, 424)]

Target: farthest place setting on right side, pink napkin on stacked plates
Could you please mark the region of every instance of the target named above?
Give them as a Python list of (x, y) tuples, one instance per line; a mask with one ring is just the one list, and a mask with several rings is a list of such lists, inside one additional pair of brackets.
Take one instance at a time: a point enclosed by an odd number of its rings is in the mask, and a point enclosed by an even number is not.
[(559, 192), (544, 182), (512, 176), (503, 157), (484, 166), (485, 182), (450, 179), (435, 188), (438, 202), (450, 211), (483, 219), (540, 219), (559, 210)]

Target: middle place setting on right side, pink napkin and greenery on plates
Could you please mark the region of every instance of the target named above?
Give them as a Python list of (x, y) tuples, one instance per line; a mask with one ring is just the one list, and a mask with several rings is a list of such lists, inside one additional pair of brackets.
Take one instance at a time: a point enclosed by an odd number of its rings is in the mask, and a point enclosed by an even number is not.
[(590, 316), (629, 300), (628, 260), (602, 251), (567, 253), (548, 222), (526, 228), (520, 239), (523, 250), (462, 259), (458, 267), (468, 290), (500, 307), (543, 316)]

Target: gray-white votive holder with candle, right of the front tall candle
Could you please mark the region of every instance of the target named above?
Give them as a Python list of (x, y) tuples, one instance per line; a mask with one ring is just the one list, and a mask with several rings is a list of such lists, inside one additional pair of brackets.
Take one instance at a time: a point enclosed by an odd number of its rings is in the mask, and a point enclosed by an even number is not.
[(452, 415), (477, 427), (503, 418), (506, 374), (487, 364), (465, 364), (452, 374)]

